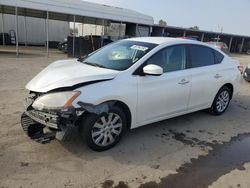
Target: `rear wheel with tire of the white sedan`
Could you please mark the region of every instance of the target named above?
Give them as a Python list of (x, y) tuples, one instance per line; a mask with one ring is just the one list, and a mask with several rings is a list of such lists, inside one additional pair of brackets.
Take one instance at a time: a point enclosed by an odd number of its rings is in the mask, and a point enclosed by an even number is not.
[(232, 91), (223, 86), (214, 98), (213, 104), (209, 112), (214, 115), (222, 115), (228, 108), (232, 97)]

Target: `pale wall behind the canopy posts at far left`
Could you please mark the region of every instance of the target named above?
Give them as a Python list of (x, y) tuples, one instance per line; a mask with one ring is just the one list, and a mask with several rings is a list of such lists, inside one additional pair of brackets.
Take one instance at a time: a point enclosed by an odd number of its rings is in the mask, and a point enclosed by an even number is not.
[[(25, 43), (25, 18), (18, 16), (18, 36), (19, 42)], [(26, 17), (27, 23), (27, 43), (45, 44), (46, 27), (45, 19)], [(1, 22), (1, 20), (0, 20)], [(15, 30), (15, 16), (4, 14), (4, 32), (9, 33)], [(2, 32), (2, 23), (0, 23)], [(63, 41), (68, 36), (69, 23), (64, 21), (49, 20), (49, 41)]]

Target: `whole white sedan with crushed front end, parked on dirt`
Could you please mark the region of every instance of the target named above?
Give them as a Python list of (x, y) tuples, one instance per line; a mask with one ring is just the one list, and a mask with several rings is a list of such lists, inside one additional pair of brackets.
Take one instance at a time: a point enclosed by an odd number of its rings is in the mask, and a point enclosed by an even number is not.
[(24, 131), (47, 143), (79, 127), (96, 151), (126, 129), (209, 109), (221, 115), (238, 93), (239, 62), (198, 41), (121, 40), (76, 60), (52, 63), (26, 86)]

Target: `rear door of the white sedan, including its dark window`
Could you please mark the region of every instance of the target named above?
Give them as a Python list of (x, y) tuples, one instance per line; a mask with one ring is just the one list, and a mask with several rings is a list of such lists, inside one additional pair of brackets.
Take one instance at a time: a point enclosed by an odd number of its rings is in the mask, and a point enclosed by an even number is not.
[(192, 89), (189, 110), (210, 107), (223, 82), (222, 66), (215, 51), (201, 45), (188, 45), (191, 60)]

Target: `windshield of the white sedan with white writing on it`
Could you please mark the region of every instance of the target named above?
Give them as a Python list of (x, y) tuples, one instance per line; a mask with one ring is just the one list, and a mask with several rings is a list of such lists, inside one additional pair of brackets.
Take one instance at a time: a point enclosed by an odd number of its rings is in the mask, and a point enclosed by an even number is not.
[(92, 66), (122, 71), (135, 64), (156, 46), (157, 44), (152, 43), (122, 40), (109, 44), (90, 54), (81, 62)]

